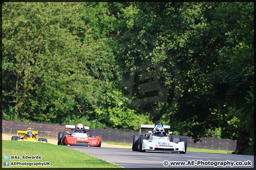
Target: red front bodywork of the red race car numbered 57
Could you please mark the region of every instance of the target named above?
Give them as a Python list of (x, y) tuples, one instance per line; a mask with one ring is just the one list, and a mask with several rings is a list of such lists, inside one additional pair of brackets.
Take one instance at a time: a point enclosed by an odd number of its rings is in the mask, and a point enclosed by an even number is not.
[(64, 142), (65, 142), (65, 145), (98, 146), (100, 144), (100, 136), (91, 138), (91, 137), (76, 137), (71, 135), (65, 135)]

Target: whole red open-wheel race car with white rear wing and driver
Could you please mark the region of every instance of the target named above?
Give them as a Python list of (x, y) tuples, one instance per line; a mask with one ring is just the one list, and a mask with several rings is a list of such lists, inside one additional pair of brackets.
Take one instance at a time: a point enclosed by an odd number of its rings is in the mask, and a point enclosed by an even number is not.
[[(67, 129), (71, 129), (72, 132), (69, 133)], [(58, 134), (58, 145), (101, 147), (101, 135), (89, 134), (89, 132), (89, 126), (83, 126), (81, 123), (65, 125), (65, 132)]]

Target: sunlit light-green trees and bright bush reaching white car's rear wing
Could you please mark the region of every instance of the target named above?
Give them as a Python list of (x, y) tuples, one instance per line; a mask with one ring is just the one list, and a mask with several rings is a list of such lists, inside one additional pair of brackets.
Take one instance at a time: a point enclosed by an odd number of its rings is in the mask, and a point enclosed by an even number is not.
[(108, 6), (102, 2), (4, 5), (3, 119), (81, 120), (92, 121), (91, 127), (129, 129), (138, 129), (138, 121), (148, 122), (146, 115), (122, 105), (126, 97), (119, 96), (114, 84), (109, 44), (116, 17)]

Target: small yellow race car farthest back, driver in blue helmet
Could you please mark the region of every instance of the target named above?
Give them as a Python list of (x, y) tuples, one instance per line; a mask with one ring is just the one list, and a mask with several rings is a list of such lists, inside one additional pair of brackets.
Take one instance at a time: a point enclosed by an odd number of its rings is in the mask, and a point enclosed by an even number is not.
[[(23, 137), (19, 134), (24, 135)], [(31, 141), (31, 142), (44, 142), (47, 143), (47, 139), (38, 138), (38, 131), (28, 128), (27, 130), (17, 130), (17, 136), (12, 136), (13, 141)]]

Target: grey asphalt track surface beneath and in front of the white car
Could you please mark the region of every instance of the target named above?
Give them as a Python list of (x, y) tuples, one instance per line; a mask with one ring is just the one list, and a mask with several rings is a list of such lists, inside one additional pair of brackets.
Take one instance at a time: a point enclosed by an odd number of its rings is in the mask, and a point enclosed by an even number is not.
[[(187, 152), (186, 154), (170, 152), (134, 152), (124, 148), (98, 148), (84, 146), (68, 146), (69, 148), (94, 155), (122, 167), (129, 168), (254, 168), (254, 156)], [(167, 162), (165, 162), (167, 161)], [(171, 165), (183, 162), (187, 165)], [(164, 165), (168, 163), (168, 165)], [(219, 163), (219, 165), (217, 165)], [(240, 163), (243, 165), (234, 165)], [(193, 165), (194, 164), (194, 165)], [(215, 165), (217, 166), (215, 166)], [(223, 165), (221, 165), (223, 164)], [(224, 166), (224, 164), (226, 164)], [(247, 165), (244, 165), (247, 164)]]

